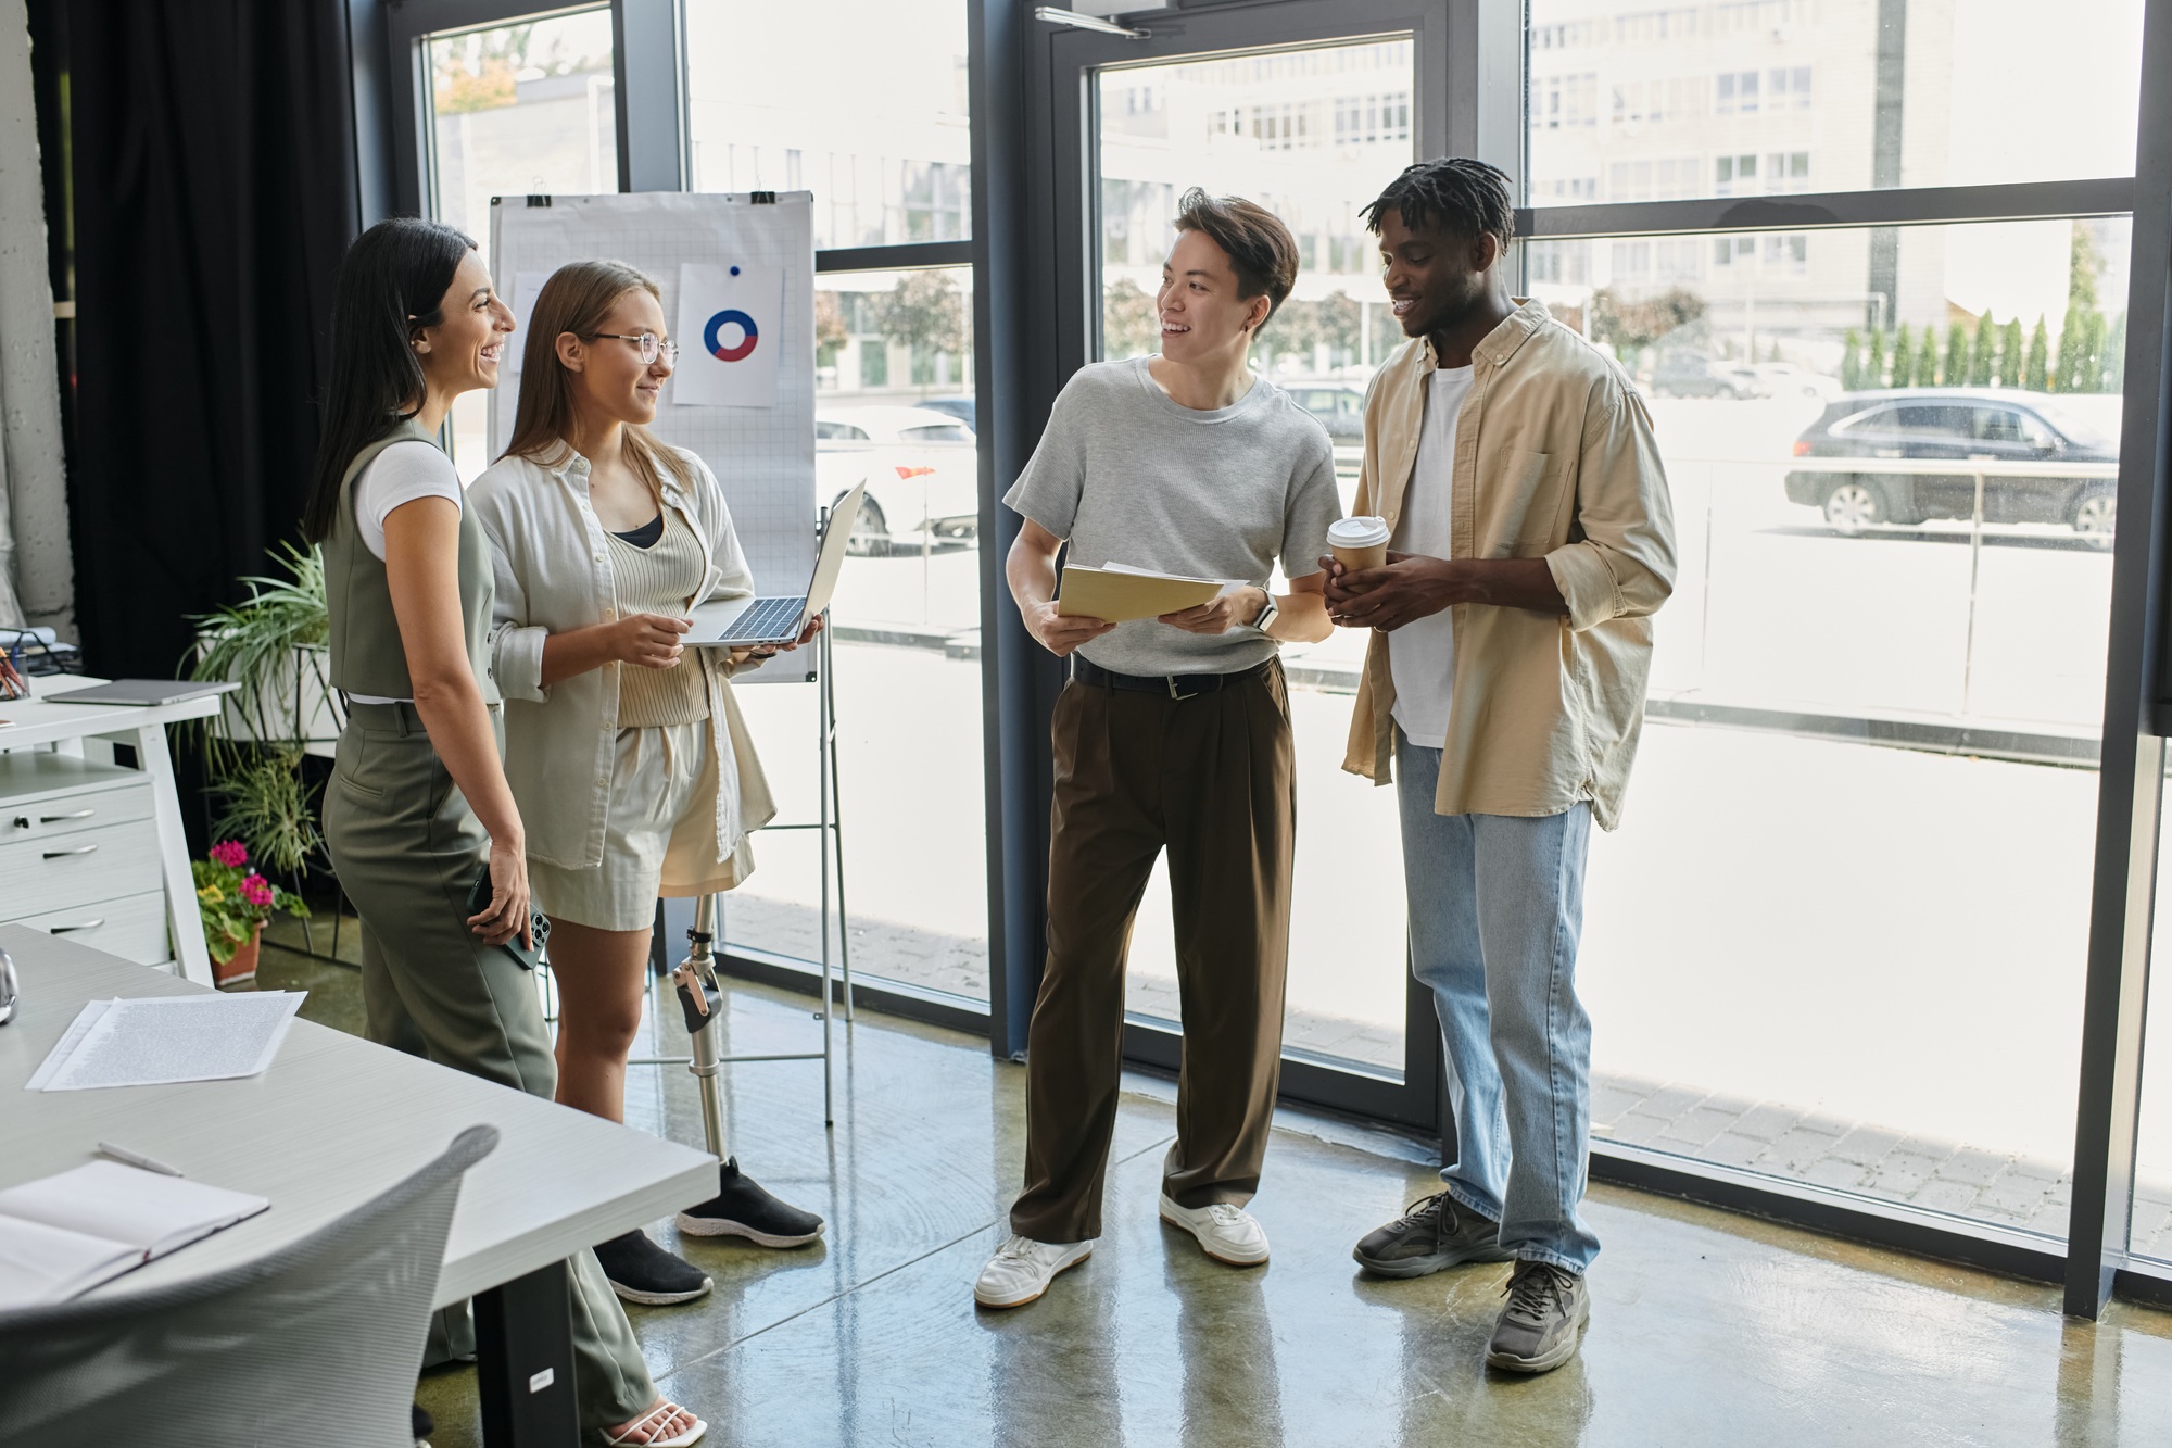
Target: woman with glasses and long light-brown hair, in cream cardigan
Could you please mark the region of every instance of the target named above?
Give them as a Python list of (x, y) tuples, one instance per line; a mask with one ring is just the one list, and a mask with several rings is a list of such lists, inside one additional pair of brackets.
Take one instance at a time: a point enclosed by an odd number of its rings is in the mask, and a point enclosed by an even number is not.
[[(775, 650), (680, 644), (693, 604), (752, 598), (754, 576), (717, 476), (647, 430), (678, 359), (656, 283), (617, 261), (560, 267), (528, 326), (513, 441), (473, 487), (497, 576), (491, 663), (552, 922), (558, 1100), (619, 1122), (658, 896), (745, 881), (747, 837), (775, 813), (728, 683)], [(791, 1248), (823, 1222), (725, 1161), (717, 1198), (678, 1228)], [(639, 1231), (595, 1254), (630, 1302), (710, 1289)]]

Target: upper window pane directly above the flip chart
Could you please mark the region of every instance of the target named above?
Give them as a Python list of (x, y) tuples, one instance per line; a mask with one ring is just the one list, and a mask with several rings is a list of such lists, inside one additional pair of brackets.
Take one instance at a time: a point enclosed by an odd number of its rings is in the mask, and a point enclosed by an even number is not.
[(812, 191), (817, 248), (962, 241), (964, 20), (960, 0), (689, 0), (693, 189)]

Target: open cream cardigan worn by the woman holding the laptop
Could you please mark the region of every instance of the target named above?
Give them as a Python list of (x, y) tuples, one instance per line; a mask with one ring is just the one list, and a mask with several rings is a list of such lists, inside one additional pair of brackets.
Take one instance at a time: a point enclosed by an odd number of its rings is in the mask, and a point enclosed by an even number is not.
[[(710, 546), (697, 598), (752, 598), (754, 574), (717, 474), (693, 452), (675, 452), (693, 465), (695, 487), (689, 494), (665, 474), (665, 507)], [(597, 867), (604, 863), (623, 665), (543, 683), (543, 639), (617, 620), (610, 548), (589, 507), (589, 459), (571, 448), (552, 467), (508, 457), (476, 478), (467, 498), (491, 539), (497, 581), (491, 667), (506, 698), (506, 783), (528, 828), (528, 854), (565, 870)], [(719, 650), (689, 648), (680, 667), (699, 667), (708, 685), (719, 785), (717, 863), (732, 861), (736, 883), (754, 867), (747, 835), (775, 817), (775, 802), (732, 698), (728, 659)]]

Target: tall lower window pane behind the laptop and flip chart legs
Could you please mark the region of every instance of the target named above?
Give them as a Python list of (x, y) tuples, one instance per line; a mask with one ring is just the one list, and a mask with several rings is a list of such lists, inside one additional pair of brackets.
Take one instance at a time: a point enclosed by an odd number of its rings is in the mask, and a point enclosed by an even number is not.
[[(830, 604), (854, 972), (986, 1000), (971, 317), (971, 267), (817, 276), (815, 480), (823, 502), (867, 483)], [(812, 822), (815, 689), (738, 698), (780, 822)], [(725, 939), (815, 959), (815, 835), (771, 831), (756, 854)]]

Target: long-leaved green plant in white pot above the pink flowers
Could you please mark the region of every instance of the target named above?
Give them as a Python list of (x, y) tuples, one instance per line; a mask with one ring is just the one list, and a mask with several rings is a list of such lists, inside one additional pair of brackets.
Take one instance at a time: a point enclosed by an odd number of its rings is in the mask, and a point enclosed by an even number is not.
[(241, 685), (198, 728), (211, 791), (222, 800), (213, 831), (248, 839), (267, 865), (295, 874), (324, 848), (315, 789), (302, 781), (302, 744), (304, 709), (328, 687), (330, 622), (324, 557), (282, 544), (274, 559), (285, 578), (248, 576), (241, 581), (248, 598), (189, 620), (195, 624), (189, 678)]

